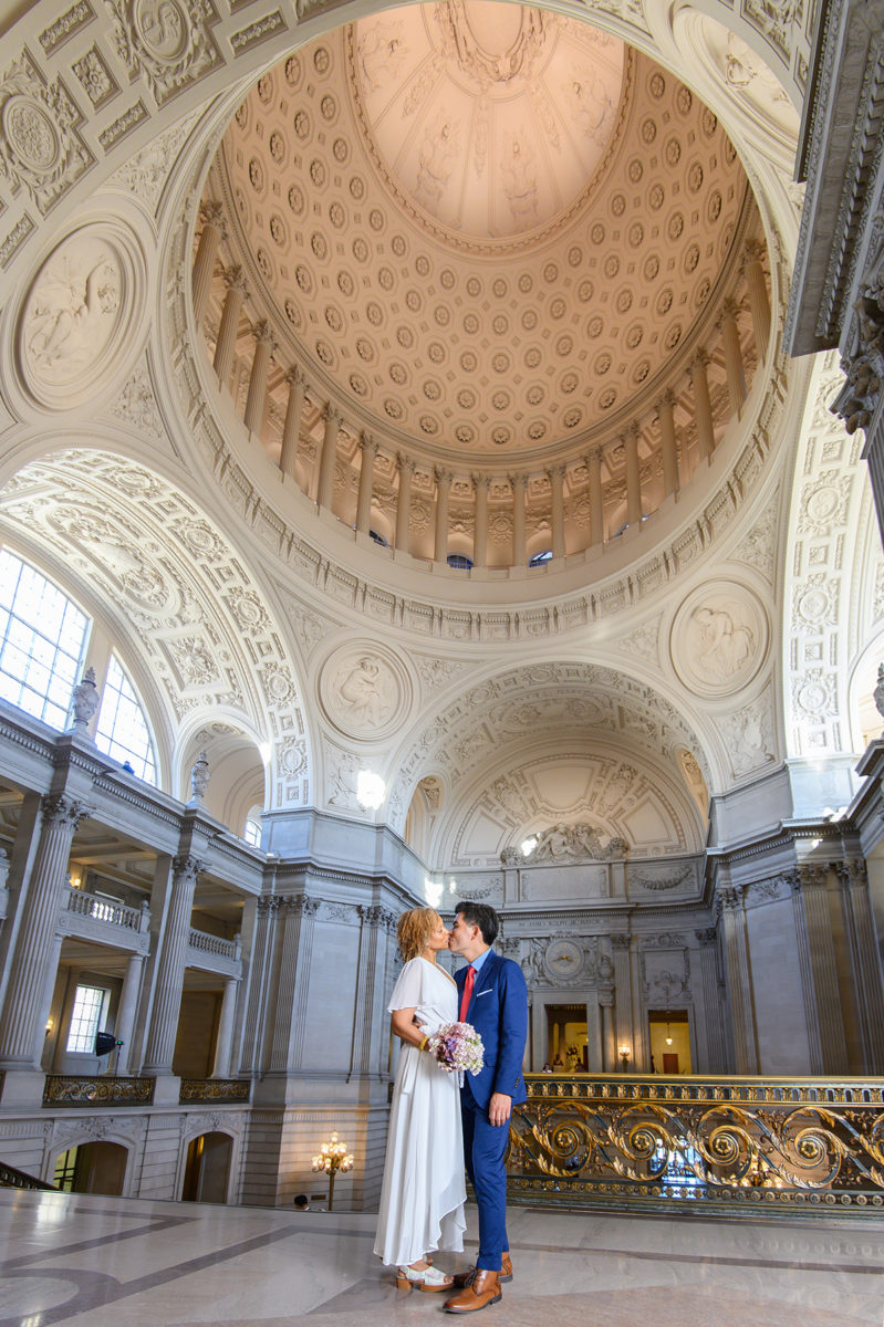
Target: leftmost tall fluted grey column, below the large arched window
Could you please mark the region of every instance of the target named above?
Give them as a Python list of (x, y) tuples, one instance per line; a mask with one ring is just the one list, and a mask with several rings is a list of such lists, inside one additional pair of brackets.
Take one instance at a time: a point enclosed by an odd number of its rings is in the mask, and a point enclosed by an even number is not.
[(36, 1070), (45, 1039), (46, 987), (57, 967), (56, 925), (68, 882), (68, 861), (77, 825), (92, 808), (69, 796), (41, 802), (40, 841), (24, 896), (21, 924), (0, 1018), (0, 1068)]

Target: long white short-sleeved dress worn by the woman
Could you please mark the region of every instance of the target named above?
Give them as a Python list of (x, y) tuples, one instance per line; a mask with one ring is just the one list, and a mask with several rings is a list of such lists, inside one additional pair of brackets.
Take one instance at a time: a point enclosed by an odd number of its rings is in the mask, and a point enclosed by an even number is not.
[[(442, 969), (413, 958), (393, 987), (390, 1013), (415, 1009), (426, 1032), (458, 1020), (458, 993)], [(381, 1210), (374, 1253), (386, 1266), (417, 1262), (425, 1253), (461, 1253), (466, 1221), (461, 1089), (417, 1046), (402, 1046), (386, 1140)]]

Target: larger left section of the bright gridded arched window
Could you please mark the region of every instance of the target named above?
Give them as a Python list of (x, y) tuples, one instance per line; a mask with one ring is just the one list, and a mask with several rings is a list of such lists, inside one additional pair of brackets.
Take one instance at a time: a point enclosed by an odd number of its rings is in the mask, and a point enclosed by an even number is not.
[(68, 727), (89, 618), (66, 594), (0, 549), (0, 697), (53, 729)]

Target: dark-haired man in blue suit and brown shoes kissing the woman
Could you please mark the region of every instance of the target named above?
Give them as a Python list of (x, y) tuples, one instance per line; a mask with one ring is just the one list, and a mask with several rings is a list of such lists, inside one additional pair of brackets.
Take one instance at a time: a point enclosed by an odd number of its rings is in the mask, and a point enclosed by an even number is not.
[(455, 974), (462, 1023), (471, 1023), (484, 1046), (484, 1067), (465, 1075), (461, 1088), (463, 1153), (479, 1206), (479, 1257), (454, 1278), (459, 1294), (445, 1303), (450, 1314), (470, 1314), (500, 1299), (500, 1282), (512, 1279), (507, 1241), (507, 1172), (503, 1157), (514, 1104), (526, 1099), (522, 1060), (528, 1035), (528, 991), (522, 969), (495, 954), (499, 922), (487, 904), (458, 904), (449, 947), (469, 966)]

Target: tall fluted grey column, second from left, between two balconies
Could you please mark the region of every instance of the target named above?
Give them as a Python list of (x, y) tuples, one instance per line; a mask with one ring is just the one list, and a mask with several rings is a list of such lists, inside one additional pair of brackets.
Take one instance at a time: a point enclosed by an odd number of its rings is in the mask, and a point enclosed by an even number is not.
[(143, 1064), (143, 1072), (153, 1078), (165, 1076), (173, 1071), (181, 995), (187, 966), (187, 946), (190, 943), (190, 918), (202, 867), (198, 857), (187, 856), (173, 860), (171, 894), (157, 963), (157, 985)]

